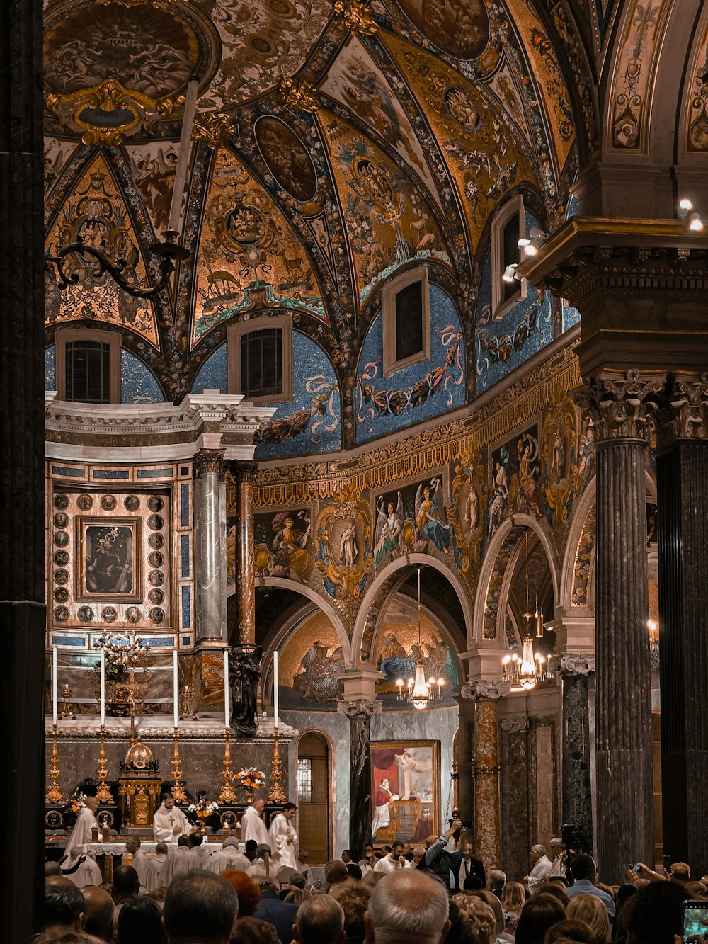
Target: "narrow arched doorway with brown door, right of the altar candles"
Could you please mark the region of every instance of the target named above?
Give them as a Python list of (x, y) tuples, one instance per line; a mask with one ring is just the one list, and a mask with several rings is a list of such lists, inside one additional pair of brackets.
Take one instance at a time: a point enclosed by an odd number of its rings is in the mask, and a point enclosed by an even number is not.
[(301, 850), (311, 866), (329, 861), (329, 745), (317, 732), (304, 733), (297, 745), (297, 826)]

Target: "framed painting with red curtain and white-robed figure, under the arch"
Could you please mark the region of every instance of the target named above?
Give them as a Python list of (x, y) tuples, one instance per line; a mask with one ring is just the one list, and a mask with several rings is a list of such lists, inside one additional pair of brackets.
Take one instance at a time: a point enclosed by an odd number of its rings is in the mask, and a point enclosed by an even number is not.
[(440, 742), (379, 741), (371, 745), (375, 843), (423, 843), (440, 829)]

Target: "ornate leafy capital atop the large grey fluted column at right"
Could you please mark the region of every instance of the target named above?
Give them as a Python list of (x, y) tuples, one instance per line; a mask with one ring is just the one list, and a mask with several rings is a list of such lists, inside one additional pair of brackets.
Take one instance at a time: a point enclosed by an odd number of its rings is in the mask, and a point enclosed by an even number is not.
[(603, 371), (585, 378), (573, 398), (592, 418), (596, 441), (646, 439), (664, 388), (664, 379), (643, 377), (638, 370)]

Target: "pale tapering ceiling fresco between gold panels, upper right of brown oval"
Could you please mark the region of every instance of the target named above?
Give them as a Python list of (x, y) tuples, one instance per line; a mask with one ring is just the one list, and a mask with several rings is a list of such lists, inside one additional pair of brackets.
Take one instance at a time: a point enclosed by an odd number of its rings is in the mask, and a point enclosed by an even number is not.
[(356, 35), (351, 36), (345, 49), (332, 63), (319, 89), (353, 111), (379, 138), (395, 147), (406, 164), (421, 177), (428, 193), (440, 203), (430, 167), (408, 116), (388, 80)]

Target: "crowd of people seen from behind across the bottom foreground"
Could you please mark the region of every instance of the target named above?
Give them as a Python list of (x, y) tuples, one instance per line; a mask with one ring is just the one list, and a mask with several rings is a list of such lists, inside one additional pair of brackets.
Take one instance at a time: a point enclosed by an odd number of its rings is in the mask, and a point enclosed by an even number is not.
[(708, 908), (708, 875), (692, 881), (684, 863), (666, 874), (637, 863), (626, 884), (602, 885), (593, 858), (566, 855), (561, 839), (550, 855), (533, 846), (529, 874), (507, 881), (455, 842), (459, 820), (425, 846), (367, 846), (358, 862), (344, 850), (313, 881), (290, 805), (275, 836), (295, 867), (253, 838), (210, 852), (177, 834), (152, 857), (131, 836), (110, 885), (79, 887), (47, 863), (38, 944), (681, 944), (683, 902)]

